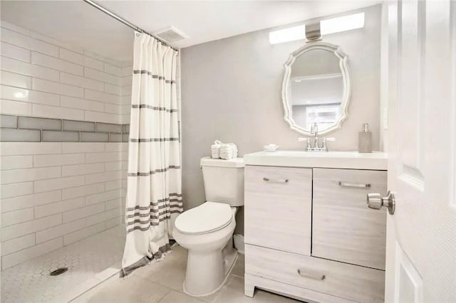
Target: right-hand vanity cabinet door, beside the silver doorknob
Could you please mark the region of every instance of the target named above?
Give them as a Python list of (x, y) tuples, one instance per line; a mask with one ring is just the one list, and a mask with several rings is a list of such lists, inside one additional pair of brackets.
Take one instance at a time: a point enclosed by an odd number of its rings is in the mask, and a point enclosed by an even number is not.
[(384, 270), (386, 211), (366, 195), (386, 188), (386, 171), (314, 169), (312, 255)]

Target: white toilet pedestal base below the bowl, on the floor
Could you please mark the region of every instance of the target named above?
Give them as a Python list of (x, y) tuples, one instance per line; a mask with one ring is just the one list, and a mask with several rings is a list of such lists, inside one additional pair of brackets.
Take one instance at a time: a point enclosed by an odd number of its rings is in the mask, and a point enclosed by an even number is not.
[(206, 253), (189, 250), (184, 292), (193, 297), (204, 297), (217, 292), (227, 281), (236, 261), (237, 250), (232, 245), (232, 239), (223, 250)]

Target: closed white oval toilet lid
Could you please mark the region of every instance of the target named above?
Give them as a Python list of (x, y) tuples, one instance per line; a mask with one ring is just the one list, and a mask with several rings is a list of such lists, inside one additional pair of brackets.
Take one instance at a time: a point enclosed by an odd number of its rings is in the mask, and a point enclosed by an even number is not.
[(207, 201), (178, 216), (175, 227), (181, 233), (210, 233), (224, 228), (232, 219), (233, 213), (228, 204)]

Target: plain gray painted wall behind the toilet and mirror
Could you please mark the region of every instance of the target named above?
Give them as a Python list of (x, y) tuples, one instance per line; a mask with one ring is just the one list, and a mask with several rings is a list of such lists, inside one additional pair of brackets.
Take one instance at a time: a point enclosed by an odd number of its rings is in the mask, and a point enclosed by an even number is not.
[[(358, 131), (368, 122), (373, 148), (379, 149), (380, 123), (380, 13), (381, 6), (366, 12), (364, 28), (323, 37), (348, 54), (352, 97), (343, 127), (330, 150), (358, 149)], [(358, 12), (353, 11), (353, 12)], [(182, 191), (185, 208), (204, 203), (199, 159), (210, 154), (215, 139), (234, 142), (239, 155), (275, 143), (280, 149), (304, 149), (284, 122), (281, 83), (284, 63), (304, 41), (269, 44), (271, 29), (255, 31), (182, 50)], [(243, 213), (237, 233), (244, 229)]]

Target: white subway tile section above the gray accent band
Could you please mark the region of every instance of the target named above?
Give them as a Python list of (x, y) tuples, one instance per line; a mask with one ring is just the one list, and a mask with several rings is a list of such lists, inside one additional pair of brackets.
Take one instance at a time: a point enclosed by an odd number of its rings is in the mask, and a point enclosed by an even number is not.
[(1, 113), (130, 122), (130, 64), (3, 21), (0, 41)]

